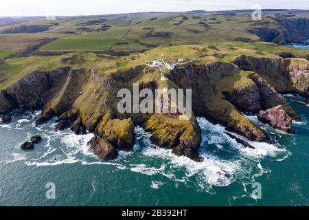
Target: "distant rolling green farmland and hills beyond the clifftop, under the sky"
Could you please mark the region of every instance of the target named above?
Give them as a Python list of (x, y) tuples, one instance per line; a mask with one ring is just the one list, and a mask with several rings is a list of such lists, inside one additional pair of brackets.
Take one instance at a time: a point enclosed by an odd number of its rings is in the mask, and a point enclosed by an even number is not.
[[(43, 52), (57, 51), (135, 51), (172, 45), (222, 43), (236, 39), (259, 41), (249, 33), (255, 28), (284, 31), (275, 19), (289, 12), (264, 12), (262, 21), (253, 21), (251, 12), (236, 15), (202, 12), (115, 14), (98, 17), (62, 17), (56, 21), (45, 19), (0, 27), (0, 52), (21, 52), (44, 39), (58, 38), (40, 48)], [(292, 19), (309, 18), (307, 11), (295, 11)], [(49, 25), (41, 33), (1, 34), (21, 25)], [(3, 57), (4, 55), (1, 55)]]

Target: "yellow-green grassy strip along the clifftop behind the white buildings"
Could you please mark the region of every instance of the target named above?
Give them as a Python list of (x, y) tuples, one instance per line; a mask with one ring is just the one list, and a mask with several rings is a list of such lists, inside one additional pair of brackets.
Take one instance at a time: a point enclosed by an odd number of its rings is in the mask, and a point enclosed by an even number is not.
[(89, 52), (77, 52), (61, 56), (30, 56), (25, 58), (6, 59), (0, 63), (0, 89), (4, 89), (23, 76), (34, 71), (51, 71), (56, 67), (70, 66), (73, 68), (99, 69), (103, 74), (117, 72), (144, 65), (145, 61), (152, 61), (164, 54), (166, 61), (177, 61), (184, 58), (196, 65), (223, 61), (231, 63), (240, 54), (257, 58), (279, 58), (279, 53), (291, 53), (295, 56), (308, 54), (308, 50), (280, 46), (274, 43), (242, 43), (227, 42), (203, 45), (181, 45), (172, 47), (157, 47), (144, 53), (129, 56), (110, 56)]

